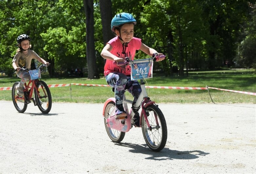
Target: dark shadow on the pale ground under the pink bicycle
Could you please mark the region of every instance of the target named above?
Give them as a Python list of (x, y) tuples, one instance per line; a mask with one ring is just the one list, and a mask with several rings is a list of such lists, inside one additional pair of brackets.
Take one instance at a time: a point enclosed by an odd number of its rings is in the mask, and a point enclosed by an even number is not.
[(192, 150), (192, 151), (179, 151), (179, 150), (170, 150), (168, 148), (164, 148), (160, 152), (152, 151), (148, 148), (147, 144), (138, 145), (138, 144), (131, 144), (131, 143), (115, 143), (118, 146), (124, 146), (132, 148), (129, 150), (132, 153), (143, 153), (149, 155), (149, 157), (145, 159), (149, 160), (189, 160), (189, 159), (196, 159), (199, 156), (206, 156), (210, 153), (201, 151), (201, 150)]

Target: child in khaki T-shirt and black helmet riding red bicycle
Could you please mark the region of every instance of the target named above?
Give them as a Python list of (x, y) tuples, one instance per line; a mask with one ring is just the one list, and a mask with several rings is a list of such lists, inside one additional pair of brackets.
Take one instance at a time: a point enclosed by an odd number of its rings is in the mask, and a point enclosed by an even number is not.
[(16, 74), (21, 81), (19, 85), (17, 85), (17, 94), (24, 95), (23, 85), (30, 80), (30, 74), (27, 71), (20, 71), (22, 67), (26, 67), (27, 69), (31, 68), (31, 60), (36, 59), (39, 62), (49, 65), (49, 62), (46, 62), (43, 58), (37, 55), (33, 50), (30, 50), (30, 37), (26, 34), (22, 34), (17, 38), (18, 49), (16, 51), (16, 55), (12, 60), (12, 67), (16, 71)]

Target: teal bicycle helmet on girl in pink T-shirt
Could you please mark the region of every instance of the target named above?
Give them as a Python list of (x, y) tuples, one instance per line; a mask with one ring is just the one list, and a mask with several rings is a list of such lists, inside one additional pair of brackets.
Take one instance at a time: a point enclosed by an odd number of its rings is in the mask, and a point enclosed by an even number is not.
[(136, 20), (130, 13), (119, 13), (114, 16), (111, 21), (111, 30), (114, 32), (115, 27), (120, 27), (123, 24), (133, 23), (134, 25), (137, 24)]

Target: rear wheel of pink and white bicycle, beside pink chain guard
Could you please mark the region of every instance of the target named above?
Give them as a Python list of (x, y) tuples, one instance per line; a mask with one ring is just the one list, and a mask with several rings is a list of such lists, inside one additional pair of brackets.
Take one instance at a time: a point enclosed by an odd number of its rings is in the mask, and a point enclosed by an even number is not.
[(107, 119), (111, 117), (111, 113), (115, 113), (115, 103), (114, 102), (109, 102), (106, 105), (105, 111), (104, 111), (104, 124), (106, 131), (108, 133), (109, 138), (115, 142), (115, 143), (120, 143), (124, 137), (125, 137), (125, 132), (121, 132), (115, 129), (111, 129), (110, 127), (107, 126)]

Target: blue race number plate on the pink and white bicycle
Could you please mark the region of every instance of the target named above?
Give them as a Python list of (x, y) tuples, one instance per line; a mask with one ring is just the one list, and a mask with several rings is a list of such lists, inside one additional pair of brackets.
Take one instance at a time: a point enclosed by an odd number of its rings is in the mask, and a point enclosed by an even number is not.
[(152, 78), (152, 71), (153, 61), (148, 59), (133, 60), (133, 64), (131, 64), (131, 80)]

